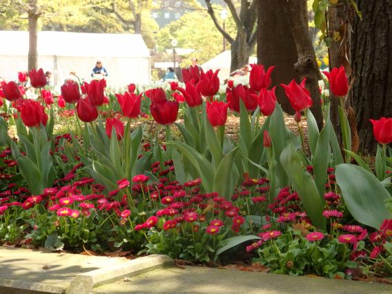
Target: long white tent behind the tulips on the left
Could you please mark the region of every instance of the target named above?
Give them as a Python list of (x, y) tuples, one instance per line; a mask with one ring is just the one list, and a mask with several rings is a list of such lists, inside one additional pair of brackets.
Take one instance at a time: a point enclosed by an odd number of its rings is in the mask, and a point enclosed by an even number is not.
[[(17, 79), (28, 65), (28, 32), (0, 31), (0, 40), (0, 77)], [(89, 81), (97, 60), (108, 70), (108, 86), (150, 81), (150, 51), (141, 35), (39, 32), (37, 50), (38, 67), (53, 72), (57, 87), (70, 72)]]

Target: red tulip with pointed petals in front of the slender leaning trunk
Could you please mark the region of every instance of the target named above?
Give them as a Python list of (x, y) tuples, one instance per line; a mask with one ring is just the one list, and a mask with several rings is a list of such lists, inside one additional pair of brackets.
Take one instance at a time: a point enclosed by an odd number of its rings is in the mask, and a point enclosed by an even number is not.
[(291, 103), (291, 107), (295, 111), (303, 111), (313, 105), (313, 100), (311, 99), (311, 94), (308, 89), (305, 88), (306, 78), (304, 78), (300, 85), (297, 84), (295, 79), (293, 79), (290, 84), (281, 84), (286, 92), (286, 96)]

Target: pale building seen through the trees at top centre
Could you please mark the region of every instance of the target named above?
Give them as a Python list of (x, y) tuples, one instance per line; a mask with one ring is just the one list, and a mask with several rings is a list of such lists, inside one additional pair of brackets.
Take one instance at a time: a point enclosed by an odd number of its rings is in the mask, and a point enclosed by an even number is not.
[[(199, 4), (206, 8), (206, 2), (204, 0), (197, 0)], [(223, 0), (212, 1), (213, 4), (221, 5), (226, 7), (226, 3)], [(155, 6), (159, 8), (151, 10), (151, 17), (158, 23), (159, 28), (163, 28), (172, 21), (177, 21), (186, 12), (195, 11), (196, 8), (191, 7), (187, 1), (184, 0), (155, 0)]]

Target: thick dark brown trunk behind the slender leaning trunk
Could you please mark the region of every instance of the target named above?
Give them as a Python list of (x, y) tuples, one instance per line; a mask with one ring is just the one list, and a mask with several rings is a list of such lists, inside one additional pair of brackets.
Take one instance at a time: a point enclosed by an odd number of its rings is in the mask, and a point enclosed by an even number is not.
[[(292, 79), (299, 81), (294, 63), (297, 62), (297, 48), (290, 26), (284, 16), (286, 0), (262, 0), (259, 3), (259, 31), (257, 39), (257, 63), (266, 68), (276, 66), (272, 74), (276, 97), (284, 111), (293, 114), (293, 108), (280, 84), (288, 84)], [(277, 21), (279, 20), (279, 21)]]

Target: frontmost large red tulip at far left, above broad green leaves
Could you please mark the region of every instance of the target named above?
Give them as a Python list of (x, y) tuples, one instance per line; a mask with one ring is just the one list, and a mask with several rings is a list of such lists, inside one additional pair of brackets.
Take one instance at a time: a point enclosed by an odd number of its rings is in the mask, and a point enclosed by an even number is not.
[(48, 115), (46, 115), (45, 108), (38, 101), (26, 99), (23, 100), (21, 106), (21, 119), (23, 124), (30, 128), (40, 124), (46, 126)]

